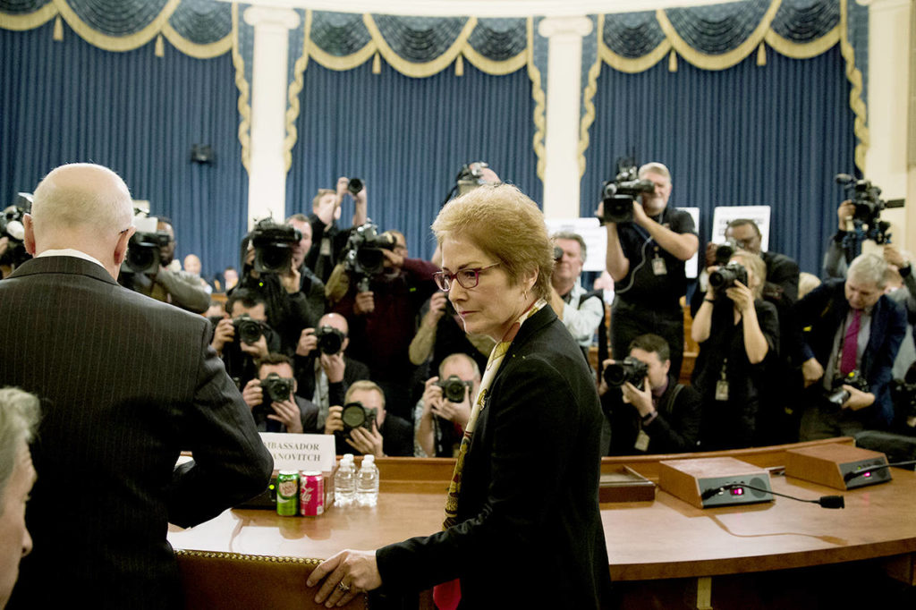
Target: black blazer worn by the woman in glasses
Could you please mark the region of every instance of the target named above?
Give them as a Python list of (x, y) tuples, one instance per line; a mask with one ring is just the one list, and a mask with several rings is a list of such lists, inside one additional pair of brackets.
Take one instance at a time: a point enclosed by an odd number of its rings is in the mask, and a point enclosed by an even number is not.
[(460, 577), (467, 608), (606, 605), (601, 422), (582, 352), (545, 307), (522, 325), (490, 387), (458, 524), (377, 550), (383, 586), (422, 590)]

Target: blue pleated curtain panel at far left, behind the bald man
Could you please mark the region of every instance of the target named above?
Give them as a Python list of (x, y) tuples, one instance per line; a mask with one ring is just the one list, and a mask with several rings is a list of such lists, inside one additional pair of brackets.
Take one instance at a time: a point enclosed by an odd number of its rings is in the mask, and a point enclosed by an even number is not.
[[(201, 256), (205, 275), (237, 266), (248, 183), (230, 54), (113, 53), (69, 29), (53, 42), (52, 27), (0, 29), (0, 202), (62, 163), (100, 163), (173, 220), (176, 256)], [(213, 163), (192, 163), (193, 144), (212, 146)]]

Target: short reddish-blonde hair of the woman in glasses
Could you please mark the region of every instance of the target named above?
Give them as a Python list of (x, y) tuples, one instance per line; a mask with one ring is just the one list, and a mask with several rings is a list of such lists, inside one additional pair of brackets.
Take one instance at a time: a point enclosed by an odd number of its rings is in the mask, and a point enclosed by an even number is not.
[(439, 245), (467, 240), (498, 261), (512, 286), (537, 270), (531, 292), (551, 293), (553, 244), (538, 204), (510, 184), (485, 184), (445, 204), (432, 223)]

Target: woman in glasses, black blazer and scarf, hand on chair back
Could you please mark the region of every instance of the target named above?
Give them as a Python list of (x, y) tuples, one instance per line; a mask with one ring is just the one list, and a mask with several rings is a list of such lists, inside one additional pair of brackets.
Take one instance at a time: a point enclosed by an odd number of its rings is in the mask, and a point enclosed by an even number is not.
[(439, 288), (466, 332), (496, 341), (443, 529), (334, 555), (309, 577), (310, 586), (324, 579), (315, 601), (437, 585), (439, 608), (605, 607), (603, 415), (579, 346), (547, 304), (553, 247), (543, 214), (513, 186), (482, 186), (446, 204), (432, 230), (442, 247)]

